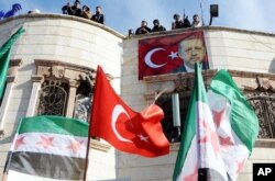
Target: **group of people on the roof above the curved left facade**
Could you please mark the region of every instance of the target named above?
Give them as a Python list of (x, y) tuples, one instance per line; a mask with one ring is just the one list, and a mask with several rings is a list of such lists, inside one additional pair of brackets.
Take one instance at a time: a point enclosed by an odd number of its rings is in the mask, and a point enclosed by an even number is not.
[(76, 0), (74, 5), (67, 2), (67, 4), (62, 8), (62, 12), (63, 14), (75, 15), (105, 24), (105, 14), (102, 13), (101, 7), (96, 7), (96, 13), (92, 14), (88, 5), (84, 4), (81, 8), (79, 0)]

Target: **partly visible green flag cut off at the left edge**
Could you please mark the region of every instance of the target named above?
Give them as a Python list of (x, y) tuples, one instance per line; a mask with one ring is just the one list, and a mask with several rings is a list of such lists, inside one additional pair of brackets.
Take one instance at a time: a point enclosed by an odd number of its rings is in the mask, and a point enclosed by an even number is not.
[(11, 47), (24, 32), (25, 32), (24, 29), (20, 27), (0, 48), (0, 100), (2, 99), (3, 95), (3, 89), (9, 68)]

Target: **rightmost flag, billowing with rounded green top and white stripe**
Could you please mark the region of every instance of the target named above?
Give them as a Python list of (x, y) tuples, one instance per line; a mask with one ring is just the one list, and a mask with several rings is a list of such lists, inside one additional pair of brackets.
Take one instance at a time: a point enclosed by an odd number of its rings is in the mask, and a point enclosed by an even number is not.
[(257, 138), (258, 120), (252, 105), (226, 70), (220, 70), (213, 77), (208, 100), (220, 140), (223, 165), (229, 178), (235, 180)]

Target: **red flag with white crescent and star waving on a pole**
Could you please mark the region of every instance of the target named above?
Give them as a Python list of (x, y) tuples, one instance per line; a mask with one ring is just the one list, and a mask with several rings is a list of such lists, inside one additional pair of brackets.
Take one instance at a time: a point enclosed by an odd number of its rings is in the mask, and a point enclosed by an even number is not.
[(169, 152), (161, 121), (163, 110), (152, 104), (141, 113), (131, 110), (114, 92), (98, 67), (91, 112), (91, 136), (106, 139), (117, 149), (144, 157)]

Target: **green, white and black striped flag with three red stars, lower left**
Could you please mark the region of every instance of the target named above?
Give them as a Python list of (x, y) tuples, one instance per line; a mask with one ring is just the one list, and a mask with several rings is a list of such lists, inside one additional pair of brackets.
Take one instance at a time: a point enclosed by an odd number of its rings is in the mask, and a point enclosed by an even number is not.
[(8, 181), (84, 180), (88, 124), (61, 116), (24, 117), (8, 159)]

